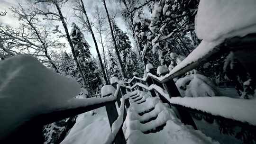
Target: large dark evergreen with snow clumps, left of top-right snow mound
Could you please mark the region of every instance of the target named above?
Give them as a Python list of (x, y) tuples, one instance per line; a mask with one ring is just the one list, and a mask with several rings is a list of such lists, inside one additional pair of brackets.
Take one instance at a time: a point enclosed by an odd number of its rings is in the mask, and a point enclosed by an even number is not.
[(155, 3), (149, 28), (154, 33), (153, 53), (158, 51), (161, 64), (170, 64), (172, 52), (183, 56), (191, 52), (192, 40), (188, 37), (194, 30), (197, 3), (197, 0), (159, 0)]

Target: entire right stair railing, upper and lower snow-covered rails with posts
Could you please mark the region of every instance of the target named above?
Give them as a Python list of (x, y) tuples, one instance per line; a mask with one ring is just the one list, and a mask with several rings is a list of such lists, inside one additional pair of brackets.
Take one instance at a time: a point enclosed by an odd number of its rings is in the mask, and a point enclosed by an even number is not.
[[(174, 78), (182, 76), (184, 73), (214, 58), (214, 55), (216, 56), (223, 52), (235, 54), (252, 76), (252, 79), (256, 80), (256, 69), (252, 66), (256, 64), (255, 48), (256, 34), (233, 37), (219, 42), (202, 42), (169, 73), (158, 77), (149, 70), (144, 78), (139, 78), (135, 75), (131, 80), (126, 81), (126, 88), (128, 90), (149, 90), (153, 97), (158, 95), (163, 102), (176, 109), (177, 115), (184, 124), (192, 125), (195, 129), (199, 128), (194, 123), (196, 119), (203, 118), (210, 123), (215, 120), (221, 125), (219, 126), (220, 133), (226, 134), (226, 136), (233, 135), (244, 143), (252, 140), (255, 142), (256, 113), (254, 109), (256, 108), (256, 102), (254, 99), (232, 99), (227, 97), (182, 98), (173, 81)], [(245, 109), (247, 112), (244, 111)], [(240, 131), (237, 132), (236, 128), (240, 128)]]

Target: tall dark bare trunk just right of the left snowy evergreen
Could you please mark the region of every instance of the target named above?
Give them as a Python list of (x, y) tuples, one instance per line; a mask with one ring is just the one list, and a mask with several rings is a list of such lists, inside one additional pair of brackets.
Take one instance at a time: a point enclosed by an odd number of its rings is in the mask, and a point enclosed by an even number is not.
[(91, 23), (89, 21), (89, 18), (87, 16), (86, 10), (84, 8), (84, 4), (83, 4), (82, 0), (80, 0), (80, 1), (82, 3), (82, 11), (83, 11), (83, 13), (84, 13), (84, 15), (86, 17), (86, 21), (88, 23), (89, 30), (91, 31), (91, 36), (92, 36), (92, 39), (93, 39), (93, 42), (95, 44), (95, 48), (96, 48), (96, 51), (97, 51), (97, 54), (98, 54), (98, 57), (99, 57), (99, 61), (100, 61), (100, 64), (101, 64), (101, 69), (102, 69), (102, 72), (103, 72), (104, 80), (106, 81), (106, 84), (109, 84), (109, 81), (108, 81), (108, 78), (106, 76), (106, 73), (105, 73), (105, 70), (104, 70), (104, 66), (103, 66), (103, 63), (102, 63), (102, 60), (101, 60), (101, 54), (100, 54), (100, 51), (99, 51), (99, 48), (98, 48), (98, 45), (97, 45), (97, 41), (96, 41), (96, 38), (95, 38), (94, 33), (92, 31), (92, 28), (91, 28)]

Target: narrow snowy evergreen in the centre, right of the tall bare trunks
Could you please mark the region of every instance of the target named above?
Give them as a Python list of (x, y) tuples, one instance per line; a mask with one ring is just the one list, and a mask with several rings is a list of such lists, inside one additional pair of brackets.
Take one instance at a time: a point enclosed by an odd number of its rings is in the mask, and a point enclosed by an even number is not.
[(127, 33), (123, 32), (115, 22), (113, 22), (113, 32), (126, 75), (128, 78), (132, 77), (133, 72), (137, 70), (137, 54), (131, 49), (131, 42)]

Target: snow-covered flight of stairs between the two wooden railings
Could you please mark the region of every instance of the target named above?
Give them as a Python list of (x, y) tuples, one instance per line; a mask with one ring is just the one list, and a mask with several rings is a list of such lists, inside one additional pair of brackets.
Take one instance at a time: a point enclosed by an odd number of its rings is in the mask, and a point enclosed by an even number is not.
[(127, 144), (219, 144), (183, 125), (167, 104), (146, 92), (137, 90), (129, 101), (123, 127)]

